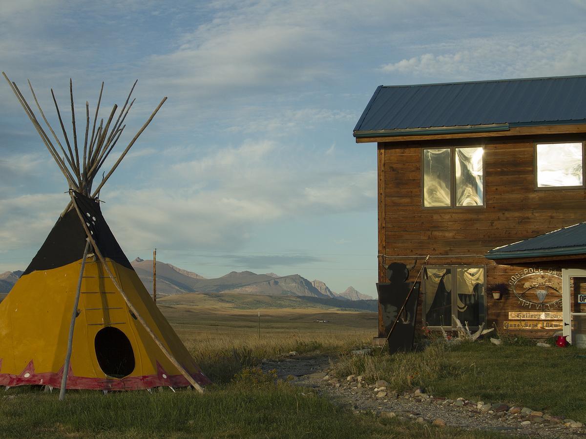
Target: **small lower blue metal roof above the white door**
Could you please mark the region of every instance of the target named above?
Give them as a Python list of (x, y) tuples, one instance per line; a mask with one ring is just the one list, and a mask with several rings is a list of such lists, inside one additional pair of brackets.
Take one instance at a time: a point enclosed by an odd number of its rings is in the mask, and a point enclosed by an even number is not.
[(489, 250), (488, 259), (586, 254), (586, 222)]

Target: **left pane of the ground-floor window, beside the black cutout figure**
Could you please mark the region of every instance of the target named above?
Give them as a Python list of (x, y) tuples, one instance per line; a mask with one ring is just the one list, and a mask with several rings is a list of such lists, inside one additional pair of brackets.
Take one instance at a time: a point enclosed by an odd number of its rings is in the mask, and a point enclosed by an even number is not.
[(425, 269), (425, 324), (452, 326), (452, 270)]

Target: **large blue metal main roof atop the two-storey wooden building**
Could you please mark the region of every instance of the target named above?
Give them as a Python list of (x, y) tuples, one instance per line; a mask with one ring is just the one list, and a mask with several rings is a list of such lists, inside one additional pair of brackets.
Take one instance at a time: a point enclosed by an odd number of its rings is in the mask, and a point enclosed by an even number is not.
[[(380, 85), (355, 137), (425, 129), (506, 130), (509, 126), (586, 123), (586, 76), (468, 83)], [(431, 131), (430, 131), (431, 129)], [(420, 134), (420, 132), (417, 132)]]

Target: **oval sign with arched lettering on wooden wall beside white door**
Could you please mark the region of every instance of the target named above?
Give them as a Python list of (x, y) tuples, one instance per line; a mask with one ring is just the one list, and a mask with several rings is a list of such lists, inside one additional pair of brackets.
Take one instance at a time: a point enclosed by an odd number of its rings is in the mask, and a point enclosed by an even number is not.
[(561, 308), (561, 273), (558, 270), (551, 268), (519, 270), (510, 277), (509, 289), (523, 307), (529, 309), (535, 307), (536, 310)]

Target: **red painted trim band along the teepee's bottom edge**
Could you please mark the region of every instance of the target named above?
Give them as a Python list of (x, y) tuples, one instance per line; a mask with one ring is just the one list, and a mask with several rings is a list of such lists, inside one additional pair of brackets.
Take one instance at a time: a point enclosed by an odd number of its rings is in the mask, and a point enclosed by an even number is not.
[[(2, 360), (0, 359), (0, 368)], [(161, 367), (159, 362), (156, 363), (156, 375), (127, 376), (126, 378), (86, 378), (75, 376), (69, 366), (67, 373), (67, 389), (87, 389), (87, 390), (141, 390), (151, 389), (152, 387), (171, 386), (187, 387), (188, 380), (183, 375), (169, 375)], [(0, 369), (1, 370), (1, 369)], [(28, 376), (27, 376), (28, 374)], [(63, 376), (63, 367), (58, 372), (35, 373), (35, 366), (30, 360), (26, 368), (19, 375), (11, 373), (0, 373), (0, 386), (23, 386), (23, 385), (49, 385), (52, 387), (61, 386)], [(165, 378), (166, 377), (166, 378)], [(205, 386), (211, 383), (202, 372), (194, 373), (193, 379), (199, 385)]]

